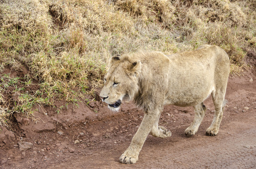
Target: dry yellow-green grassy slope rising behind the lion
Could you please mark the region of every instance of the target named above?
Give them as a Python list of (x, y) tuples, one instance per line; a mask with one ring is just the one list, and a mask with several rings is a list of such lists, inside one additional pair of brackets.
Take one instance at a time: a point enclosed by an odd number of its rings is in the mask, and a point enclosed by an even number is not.
[(0, 71), (23, 76), (0, 75), (0, 124), (35, 104), (93, 94), (109, 57), (124, 52), (172, 54), (208, 43), (224, 48), (239, 72), (256, 48), (255, 11), (254, 0), (3, 0)]

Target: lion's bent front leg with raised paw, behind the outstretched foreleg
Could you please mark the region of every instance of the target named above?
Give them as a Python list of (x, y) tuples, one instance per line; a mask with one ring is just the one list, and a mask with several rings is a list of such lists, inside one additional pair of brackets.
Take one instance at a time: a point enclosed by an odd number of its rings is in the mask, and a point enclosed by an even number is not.
[[(160, 114), (159, 114), (159, 117), (160, 117)], [(152, 136), (160, 137), (160, 138), (170, 137), (172, 135), (172, 132), (170, 130), (167, 130), (163, 126), (158, 126), (159, 117), (155, 121), (154, 126), (153, 126), (152, 130), (150, 131), (150, 134)]]

